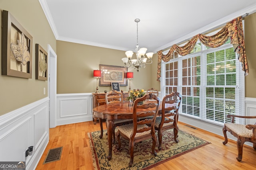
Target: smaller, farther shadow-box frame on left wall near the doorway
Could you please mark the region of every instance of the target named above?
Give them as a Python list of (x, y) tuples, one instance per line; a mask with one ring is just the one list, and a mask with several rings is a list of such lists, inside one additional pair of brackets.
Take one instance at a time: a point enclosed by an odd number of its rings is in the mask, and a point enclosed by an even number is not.
[(48, 53), (36, 44), (36, 79), (47, 80), (48, 74)]

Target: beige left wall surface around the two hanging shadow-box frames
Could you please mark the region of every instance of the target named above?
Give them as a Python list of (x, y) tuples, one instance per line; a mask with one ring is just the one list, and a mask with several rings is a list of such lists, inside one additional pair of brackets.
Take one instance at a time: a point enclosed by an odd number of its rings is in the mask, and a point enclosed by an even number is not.
[[(33, 37), (32, 78), (0, 74), (0, 115), (3, 115), (47, 97), (47, 81), (35, 80), (35, 44), (40, 44), (46, 51), (47, 44), (50, 44), (56, 51), (56, 39), (38, 0), (0, 0), (0, 10), (0, 23), (2, 23), (2, 10), (9, 11)], [(2, 49), (0, 51), (2, 53)], [(46, 88), (45, 95), (44, 88)]]

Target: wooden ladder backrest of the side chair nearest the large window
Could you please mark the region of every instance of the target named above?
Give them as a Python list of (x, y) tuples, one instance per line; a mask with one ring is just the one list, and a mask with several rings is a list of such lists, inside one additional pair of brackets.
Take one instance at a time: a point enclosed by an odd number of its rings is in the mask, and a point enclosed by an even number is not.
[(162, 119), (160, 125), (169, 122), (173, 122), (174, 125), (177, 125), (181, 99), (182, 95), (178, 92), (172, 92), (164, 96), (162, 100)]

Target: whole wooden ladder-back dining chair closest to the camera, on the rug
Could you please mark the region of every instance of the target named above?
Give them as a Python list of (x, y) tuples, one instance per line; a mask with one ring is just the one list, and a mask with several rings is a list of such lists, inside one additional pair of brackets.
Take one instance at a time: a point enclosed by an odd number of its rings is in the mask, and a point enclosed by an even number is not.
[[(150, 99), (148, 102), (144, 102), (142, 105), (138, 105), (138, 102)], [(152, 139), (152, 153), (156, 156), (156, 134), (154, 129), (154, 123), (156, 120), (156, 114), (158, 113), (158, 106), (160, 104), (160, 98), (154, 94), (146, 94), (141, 98), (134, 101), (133, 104), (133, 123), (127, 125), (121, 125), (117, 127), (117, 139), (118, 150), (121, 148), (120, 135), (129, 141), (130, 162), (129, 166), (133, 164), (134, 158), (134, 143)], [(150, 117), (151, 116), (151, 117)], [(143, 119), (144, 117), (150, 117)], [(150, 124), (150, 126), (148, 126)]]

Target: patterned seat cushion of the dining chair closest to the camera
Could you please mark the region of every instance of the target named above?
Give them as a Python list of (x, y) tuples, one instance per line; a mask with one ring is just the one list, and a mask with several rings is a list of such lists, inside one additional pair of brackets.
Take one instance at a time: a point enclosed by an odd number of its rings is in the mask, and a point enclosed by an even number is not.
[[(138, 125), (137, 126), (137, 130), (139, 129), (144, 129), (144, 128), (148, 128), (147, 125)], [(130, 139), (130, 135), (132, 134), (133, 131), (133, 123), (127, 124), (127, 125), (122, 125), (118, 127), (118, 131), (120, 131), (121, 133), (123, 133), (126, 137), (128, 137)], [(136, 133), (135, 138), (136, 137), (141, 137), (143, 135), (148, 135), (150, 134), (150, 131), (144, 131), (142, 133)]]

